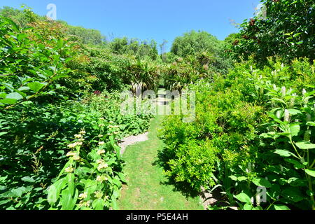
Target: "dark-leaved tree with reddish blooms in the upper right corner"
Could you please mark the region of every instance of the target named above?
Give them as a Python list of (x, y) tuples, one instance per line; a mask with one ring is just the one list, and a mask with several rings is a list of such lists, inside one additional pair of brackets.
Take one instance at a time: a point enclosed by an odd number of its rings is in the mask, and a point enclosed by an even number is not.
[(311, 0), (262, 0), (267, 12), (241, 25), (235, 41), (237, 56), (255, 55), (256, 62), (269, 56), (286, 61), (295, 57), (314, 58), (315, 4)]

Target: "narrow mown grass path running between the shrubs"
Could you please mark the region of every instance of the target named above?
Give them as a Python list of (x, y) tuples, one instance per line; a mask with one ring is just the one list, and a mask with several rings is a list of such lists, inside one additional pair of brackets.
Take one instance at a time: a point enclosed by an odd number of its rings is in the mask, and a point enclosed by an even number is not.
[(199, 197), (186, 197), (167, 183), (162, 167), (156, 164), (163, 142), (158, 138), (162, 117), (151, 120), (148, 141), (128, 146), (123, 158), (128, 185), (120, 200), (121, 210), (202, 210)]

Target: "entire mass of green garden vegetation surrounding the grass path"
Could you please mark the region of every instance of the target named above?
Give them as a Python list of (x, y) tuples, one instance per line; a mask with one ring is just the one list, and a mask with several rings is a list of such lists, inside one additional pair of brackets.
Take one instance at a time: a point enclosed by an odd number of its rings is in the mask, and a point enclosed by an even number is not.
[(119, 209), (118, 142), (155, 116), (120, 113), (139, 86), (195, 91), (192, 123), (163, 119), (158, 159), (188, 192), (218, 192), (209, 209), (315, 209), (315, 3), (262, 3), (225, 41), (190, 31), (162, 55), (154, 40), (1, 9), (0, 209)]

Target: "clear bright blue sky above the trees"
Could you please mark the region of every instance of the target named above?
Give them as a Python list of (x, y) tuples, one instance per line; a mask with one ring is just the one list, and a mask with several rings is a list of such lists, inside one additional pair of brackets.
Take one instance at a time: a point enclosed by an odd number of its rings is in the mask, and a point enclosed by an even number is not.
[(260, 0), (1, 0), (0, 6), (20, 8), (22, 3), (46, 15), (48, 3), (57, 6), (57, 20), (98, 29), (104, 36), (167, 40), (192, 29), (207, 31), (219, 39), (251, 18)]

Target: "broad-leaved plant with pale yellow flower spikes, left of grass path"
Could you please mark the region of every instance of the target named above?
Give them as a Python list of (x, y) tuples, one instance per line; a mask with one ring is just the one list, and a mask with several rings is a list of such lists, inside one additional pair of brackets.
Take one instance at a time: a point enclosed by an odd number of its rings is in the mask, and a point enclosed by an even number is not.
[(99, 147), (84, 152), (81, 147), (84, 139), (79, 139), (84, 133), (81, 131), (76, 135), (77, 140), (69, 144), (72, 149), (66, 154), (69, 162), (48, 188), (48, 203), (52, 210), (118, 209), (116, 199), (125, 180), (120, 172), (120, 148), (111, 135), (107, 144), (102, 141), (104, 137), (100, 137)]

